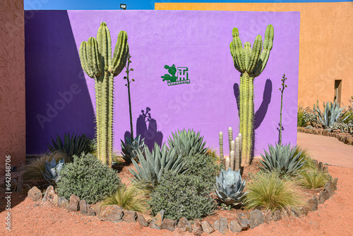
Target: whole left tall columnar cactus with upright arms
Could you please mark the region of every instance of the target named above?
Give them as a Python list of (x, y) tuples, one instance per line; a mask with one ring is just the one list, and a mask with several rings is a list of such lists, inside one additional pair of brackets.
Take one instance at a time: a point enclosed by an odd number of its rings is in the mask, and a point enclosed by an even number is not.
[(80, 45), (83, 71), (95, 79), (97, 155), (109, 166), (113, 153), (113, 78), (124, 69), (127, 58), (128, 35), (120, 31), (112, 57), (112, 39), (105, 22), (100, 24), (97, 39), (90, 37)]

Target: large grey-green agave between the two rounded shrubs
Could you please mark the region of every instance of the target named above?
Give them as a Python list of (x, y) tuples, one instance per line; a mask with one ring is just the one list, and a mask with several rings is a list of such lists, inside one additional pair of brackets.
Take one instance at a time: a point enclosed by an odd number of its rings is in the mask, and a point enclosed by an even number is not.
[(129, 169), (133, 175), (131, 181), (139, 186), (142, 184), (145, 189), (154, 189), (160, 183), (164, 170), (172, 170), (176, 173), (186, 171), (184, 168), (186, 162), (182, 159), (182, 155), (177, 155), (175, 148), (168, 151), (165, 145), (161, 149), (155, 143), (152, 153), (145, 145), (145, 155), (143, 155), (142, 151), (138, 150), (137, 158), (140, 165), (131, 159), (133, 166), (136, 168), (136, 171), (131, 168)]

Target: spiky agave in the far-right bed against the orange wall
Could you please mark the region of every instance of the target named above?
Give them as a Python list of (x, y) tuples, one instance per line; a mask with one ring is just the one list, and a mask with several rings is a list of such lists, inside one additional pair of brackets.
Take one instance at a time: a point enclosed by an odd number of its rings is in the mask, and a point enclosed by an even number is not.
[(337, 102), (335, 100), (335, 102), (330, 102), (330, 104), (327, 102), (327, 104), (325, 105), (325, 103), (323, 103), (323, 106), (325, 107), (324, 110), (321, 110), (318, 107), (318, 103), (315, 106), (315, 104), (313, 105), (313, 110), (318, 114), (318, 118), (320, 119), (321, 123), (323, 124), (323, 126), (325, 127), (332, 127), (334, 122), (344, 122), (349, 116), (345, 117), (344, 119), (342, 119), (342, 117), (345, 115), (345, 112), (342, 113), (342, 111), (346, 108), (346, 107), (342, 107), (340, 108), (340, 104), (339, 102)]

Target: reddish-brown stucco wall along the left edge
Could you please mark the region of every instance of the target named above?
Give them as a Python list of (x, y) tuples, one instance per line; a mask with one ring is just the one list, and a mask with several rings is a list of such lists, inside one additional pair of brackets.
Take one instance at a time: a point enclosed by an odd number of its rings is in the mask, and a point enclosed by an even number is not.
[(0, 2), (0, 177), (6, 155), (25, 164), (25, 26), (23, 1)]

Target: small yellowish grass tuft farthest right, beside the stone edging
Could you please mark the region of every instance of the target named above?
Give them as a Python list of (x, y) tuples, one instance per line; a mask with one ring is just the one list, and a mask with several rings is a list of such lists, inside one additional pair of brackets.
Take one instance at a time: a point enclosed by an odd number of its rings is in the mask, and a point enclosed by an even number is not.
[(309, 170), (301, 172), (299, 184), (306, 189), (317, 189), (325, 186), (327, 181), (328, 177), (325, 173)]

